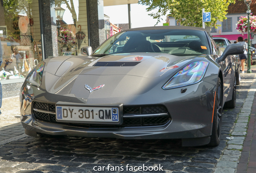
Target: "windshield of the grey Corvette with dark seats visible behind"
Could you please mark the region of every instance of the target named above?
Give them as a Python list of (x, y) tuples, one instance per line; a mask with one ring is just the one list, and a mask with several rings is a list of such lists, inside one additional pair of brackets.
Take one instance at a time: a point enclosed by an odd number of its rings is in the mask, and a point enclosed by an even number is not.
[(210, 54), (210, 48), (201, 30), (136, 30), (118, 32), (99, 46), (93, 56), (132, 52), (189, 56)]

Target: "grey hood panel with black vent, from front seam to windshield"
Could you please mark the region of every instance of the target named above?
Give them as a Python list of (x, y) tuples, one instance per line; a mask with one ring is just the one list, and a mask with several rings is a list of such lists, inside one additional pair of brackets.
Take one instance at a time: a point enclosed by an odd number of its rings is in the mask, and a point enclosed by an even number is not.
[[(205, 55), (201, 55), (205, 57)], [(61, 60), (52, 58), (47, 72), (56, 76), (87, 75), (131, 75), (154, 78), (170, 74), (197, 56), (174, 56), (159, 53), (127, 53), (103, 57), (74, 56)], [(62, 62), (61, 62), (62, 61)], [(59, 66), (58, 69), (52, 68)]]

